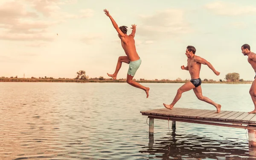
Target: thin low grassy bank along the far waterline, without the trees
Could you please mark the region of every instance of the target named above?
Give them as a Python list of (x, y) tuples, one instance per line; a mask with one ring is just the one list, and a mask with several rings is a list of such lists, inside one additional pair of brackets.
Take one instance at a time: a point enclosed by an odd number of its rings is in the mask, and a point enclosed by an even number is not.
[[(136, 80), (139, 83), (186, 83), (177, 80)], [(0, 78), (0, 82), (76, 82), (76, 83), (125, 83), (125, 79), (54, 79), (54, 78)], [(202, 81), (202, 83), (218, 83), (218, 84), (251, 84), (252, 81)]]

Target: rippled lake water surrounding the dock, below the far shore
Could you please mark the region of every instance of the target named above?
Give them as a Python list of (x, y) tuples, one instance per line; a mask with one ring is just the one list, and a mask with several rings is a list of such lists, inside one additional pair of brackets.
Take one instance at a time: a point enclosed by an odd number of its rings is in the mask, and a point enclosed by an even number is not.
[[(247, 130), (148, 119), (182, 84), (0, 83), (0, 160), (234, 160), (253, 158)], [(202, 84), (225, 111), (252, 111), (250, 84)], [(215, 109), (192, 90), (175, 107)], [(146, 122), (147, 121), (147, 122)], [(170, 129), (170, 131), (169, 131)]]

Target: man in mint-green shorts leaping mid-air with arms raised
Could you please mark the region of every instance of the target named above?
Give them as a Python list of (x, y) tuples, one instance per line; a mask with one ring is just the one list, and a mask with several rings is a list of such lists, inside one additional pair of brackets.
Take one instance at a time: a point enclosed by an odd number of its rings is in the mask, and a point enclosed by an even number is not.
[(136, 25), (131, 25), (131, 34), (127, 35), (127, 26), (120, 26), (118, 27), (118, 25), (116, 24), (115, 20), (111, 17), (111, 15), (109, 14), (107, 9), (104, 9), (105, 14), (110, 18), (114, 28), (116, 29), (116, 31), (118, 32), (118, 37), (121, 39), (121, 45), (122, 48), (125, 51), (125, 54), (127, 56), (120, 56), (118, 58), (117, 64), (116, 64), (116, 70), (113, 74), (108, 74), (108, 76), (112, 77), (113, 79), (116, 79), (117, 73), (120, 70), (121, 66), (122, 66), (122, 62), (125, 62), (127, 64), (129, 64), (129, 69), (128, 69), (128, 73), (127, 73), (127, 79), (126, 82), (134, 87), (140, 88), (145, 90), (146, 94), (147, 94), (147, 98), (148, 98), (148, 92), (149, 92), (149, 87), (144, 87), (143, 85), (139, 84), (136, 81), (133, 81), (133, 77), (136, 73), (136, 71), (138, 70), (138, 68), (140, 67), (141, 64), (141, 59), (136, 51), (136, 47), (135, 47), (135, 41), (134, 41), (134, 36), (135, 36), (135, 32), (136, 32)]

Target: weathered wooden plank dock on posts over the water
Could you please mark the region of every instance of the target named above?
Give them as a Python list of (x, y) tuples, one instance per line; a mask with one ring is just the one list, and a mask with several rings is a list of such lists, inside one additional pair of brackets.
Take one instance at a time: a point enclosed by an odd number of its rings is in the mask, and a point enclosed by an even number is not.
[(154, 119), (164, 119), (171, 120), (173, 126), (178, 121), (248, 129), (249, 145), (256, 146), (256, 114), (239, 111), (215, 112), (216, 110), (192, 108), (173, 108), (172, 110), (162, 108), (140, 111), (143, 116), (149, 118), (149, 134), (151, 135), (154, 134)]

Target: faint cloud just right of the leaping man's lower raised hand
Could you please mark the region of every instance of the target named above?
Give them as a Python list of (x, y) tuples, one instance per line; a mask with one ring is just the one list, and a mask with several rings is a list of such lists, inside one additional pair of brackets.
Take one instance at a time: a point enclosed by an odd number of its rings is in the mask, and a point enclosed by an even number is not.
[(140, 15), (140, 20), (142, 25), (137, 26), (137, 35), (152, 40), (192, 32), (181, 9), (159, 11), (154, 15)]

